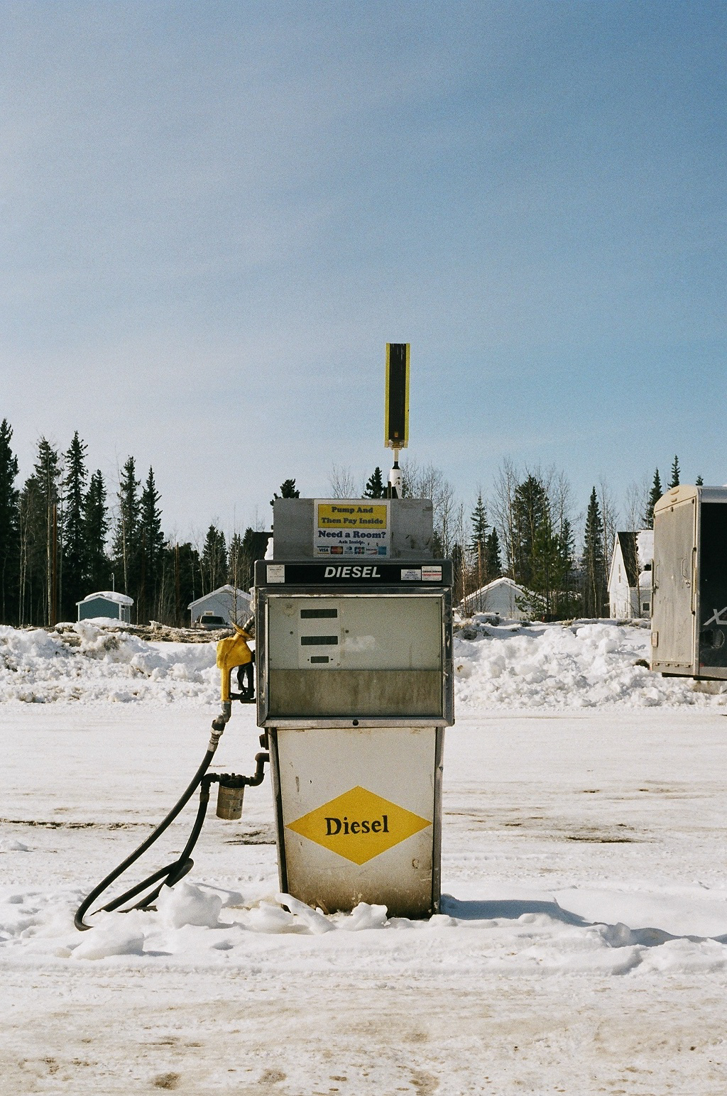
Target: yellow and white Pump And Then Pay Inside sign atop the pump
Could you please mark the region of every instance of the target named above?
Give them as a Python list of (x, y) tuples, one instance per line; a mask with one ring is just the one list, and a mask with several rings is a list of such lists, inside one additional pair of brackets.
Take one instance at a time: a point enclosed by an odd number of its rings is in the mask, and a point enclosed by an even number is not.
[(391, 555), (388, 499), (316, 499), (313, 553), (387, 559)]

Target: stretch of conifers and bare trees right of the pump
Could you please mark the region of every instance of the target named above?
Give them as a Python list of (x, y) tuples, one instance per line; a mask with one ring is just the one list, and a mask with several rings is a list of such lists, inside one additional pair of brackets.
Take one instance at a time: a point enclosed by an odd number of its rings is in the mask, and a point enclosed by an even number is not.
[[(511, 460), (498, 470), (489, 500), (478, 492), (467, 512), (454, 487), (433, 466), (401, 461), (404, 494), (431, 499), (434, 505), (434, 550), (454, 564), (455, 602), (482, 606), (480, 591), (507, 576), (527, 591), (527, 610), (546, 620), (609, 615), (609, 570), (622, 521), (605, 481), (594, 484), (576, 543), (572, 491), (567, 477), (550, 468), (520, 471)], [(680, 482), (679, 458), (671, 465), (667, 489)], [(702, 477), (697, 477), (701, 484)], [(333, 466), (331, 492), (338, 498), (384, 498), (386, 486), (375, 468), (361, 489), (349, 469)], [(627, 492), (621, 528), (654, 527), (654, 506), (663, 494), (658, 468), (648, 481)], [(488, 517), (489, 513), (489, 517)]]

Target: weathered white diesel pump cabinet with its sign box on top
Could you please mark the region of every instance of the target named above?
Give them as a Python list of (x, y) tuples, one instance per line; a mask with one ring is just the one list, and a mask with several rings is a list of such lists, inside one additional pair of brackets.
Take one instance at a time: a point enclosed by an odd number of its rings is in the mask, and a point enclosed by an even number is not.
[(258, 726), (281, 890), (326, 913), (440, 901), (452, 562), (422, 499), (276, 499), (255, 564)]

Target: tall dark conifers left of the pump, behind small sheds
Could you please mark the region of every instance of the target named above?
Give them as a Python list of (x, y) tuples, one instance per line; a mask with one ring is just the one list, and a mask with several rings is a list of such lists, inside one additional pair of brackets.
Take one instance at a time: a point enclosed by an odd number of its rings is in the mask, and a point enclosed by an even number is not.
[(0, 424), (0, 623), (52, 626), (76, 620), (77, 603), (113, 590), (134, 600), (132, 619), (189, 623), (188, 605), (230, 583), (252, 583), (261, 534), (225, 534), (211, 525), (201, 548), (164, 536), (154, 469), (129, 456), (110, 499), (88, 446), (73, 434), (60, 452), (42, 437), (33, 471), (16, 483), (12, 427)]

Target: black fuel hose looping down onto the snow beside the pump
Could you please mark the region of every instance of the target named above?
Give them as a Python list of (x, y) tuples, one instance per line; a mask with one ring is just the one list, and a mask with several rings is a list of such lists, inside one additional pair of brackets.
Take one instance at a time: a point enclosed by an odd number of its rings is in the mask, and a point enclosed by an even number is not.
[[(118, 867), (114, 868), (114, 870), (111, 871), (105, 877), (105, 879), (102, 879), (101, 882), (98, 884), (98, 887), (94, 887), (91, 893), (83, 899), (78, 910), (76, 911), (76, 916), (73, 917), (73, 924), (80, 932), (84, 932), (87, 928), (93, 927), (92, 925), (87, 925), (86, 922), (83, 921), (83, 917), (89, 906), (92, 905), (93, 902), (95, 902), (95, 900), (99, 898), (100, 894), (103, 894), (103, 892), (107, 890), (109, 887), (111, 887), (111, 884), (114, 882), (115, 879), (118, 879), (118, 877), (122, 876), (126, 871), (126, 869), (132, 866), (132, 864), (138, 860), (138, 858), (143, 856), (144, 853), (146, 853), (147, 848), (154, 845), (155, 841), (157, 841), (164, 832), (164, 830), (169, 825), (171, 825), (171, 823), (174, 821), (180, 811), (182, 811), (186, 807), (190, 799), (202, 784), (204, 775), (209, 768), (209, 763), (212, 762), (214, 755), (215, 755), (214, 750), (207, 750), (202, 761), (202, 764), (200, 765), (198, 769), (192, 777), (186, 789), (182, 792), (180, 798), (172, 807), (169, 814), (167, 814), (167, 817), (162, 819), (162, 821), (159, 823), (156, 830), (152, 830), (149, 836), (141, 842), (138, 848), (135, 848), (134, 852), (129, 856), (127, 856), (122, 864), (118, 865)], [(205, 791), (206, 795), (204, 794)], [(190, 853), (192, 852), (194, 845), (196, 844), (196, 840), (200, 836), (200, 831), (202, 830), (202, 823), (204, 822), (204, 817), (207, 810), (208, 800), (209, 800), (209, 785), (207, 784), (206, 789), (203, 789), (203, 794), (200, 796), (200, 809), (197, 811), (197, 817), (194, 826), (192, 829), (192, 833), (190, 834), (190, 840), (184, 846), (182, 854), (175, 860), (173, 860), (172, 864), (168, 864), (166, 868), (160, 868), (159, 871), (155, 871), (154, 875), (149, 876), (147, 879), (144, 879), (140, 883), (137, 883), (130, 890), (122, 894), (121, 898), (114, 899), (113, 902), (110, 902), (107, 905), (102, 906), (102, 910), (110, 912), (112, 910), (118, 909), (118, 906), (122, 905), (122, 903), (128, 901), (128, 899), (130, 898), (136, 898), (136, 895), (139, 894), (143, 890), (145, 890), (145, 888), (151, 887), (154, 883), (159, 882), (159, 880), (161, 879), (162, 882), (159, 883), (159, 886), (156, 888), (156, 890), (151, 892), (151, 894), (148, 894), (145, 899), (143, 899), (141, 902), (138, 902), (135, 906), (133, 906), (133, 909), (135, 910), (144, 910), (151, 902), (154, 902), (154, 900), (159, 894), (159, 891), (164, 886), (164, 882), (167, 882), (167, 884), (171, 887), (173, 883), (179, 882), (179, 880), (186, 875), (186, 872), (193, 866), (193, 861), (190, 859)]]

